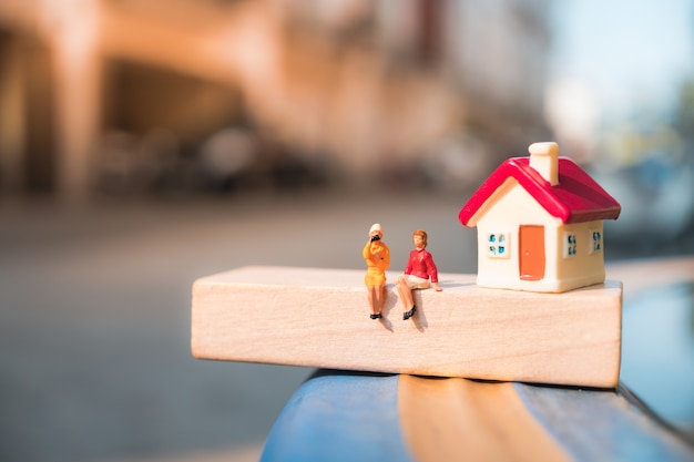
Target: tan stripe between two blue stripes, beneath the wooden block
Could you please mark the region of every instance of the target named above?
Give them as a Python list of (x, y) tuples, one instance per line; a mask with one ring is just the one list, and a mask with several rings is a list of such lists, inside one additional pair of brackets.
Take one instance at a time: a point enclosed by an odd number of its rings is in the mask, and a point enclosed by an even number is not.
[(511, 382), (401, 376), (398, 408), (405, 437), (422, 462), (570, 460)]

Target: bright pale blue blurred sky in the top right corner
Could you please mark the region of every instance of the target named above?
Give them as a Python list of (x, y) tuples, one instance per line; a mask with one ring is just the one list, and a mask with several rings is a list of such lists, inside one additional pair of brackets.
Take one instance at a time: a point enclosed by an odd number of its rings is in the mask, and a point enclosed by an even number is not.
[(602, 119), (634, 105), (666, 110), (694, 74), (694, 2), (558, 0), (552, 3), (554, 81), (584, 85)]

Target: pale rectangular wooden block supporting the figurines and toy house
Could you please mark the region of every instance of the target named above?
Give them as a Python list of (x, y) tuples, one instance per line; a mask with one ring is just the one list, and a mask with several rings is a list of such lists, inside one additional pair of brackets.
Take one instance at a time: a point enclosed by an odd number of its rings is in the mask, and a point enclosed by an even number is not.
[[(392, 283), (397, 274), (387, 274)], [(619, 381), (622, 285), (563, 294), (480, 288), (441, 274), (402, 320), (387, 285), (369, 319), (364, 271), (245, 267), (193, 286), (196, 358), (613, 388)]]

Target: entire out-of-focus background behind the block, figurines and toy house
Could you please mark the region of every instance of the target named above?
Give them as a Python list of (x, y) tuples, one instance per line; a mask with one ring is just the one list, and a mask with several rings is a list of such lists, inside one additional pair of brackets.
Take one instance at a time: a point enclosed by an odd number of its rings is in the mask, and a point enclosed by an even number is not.
[[(458, 211), (532, 142), (622, 204), (609, 264), (693, 255), (693, 27), (686, 0), (1, 0), (0, 459), (254, 460), (310, 371), (193, 360), (192, 281), (360, 269), (375, 222), (392, 268), (425, 228), (473, 273)], [(692, 434), (694, 287), (629, 290), (622, 378)]]

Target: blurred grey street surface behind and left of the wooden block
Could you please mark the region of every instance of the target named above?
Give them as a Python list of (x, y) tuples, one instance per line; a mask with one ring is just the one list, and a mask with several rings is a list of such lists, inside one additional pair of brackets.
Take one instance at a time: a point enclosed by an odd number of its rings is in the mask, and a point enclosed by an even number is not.
[[(440, 270), (473, 271), (476, 234), (457, 220), (461, 204), (325, 192), (83, 208), (4, 204), (0, 459), (259, 451), (309, 370), (192, 359), (193, 280), (244, 265), (360, 269), (374, 222), (384, 226), (394, 269), (422, 227)], [(300, 316), (298, 308), (287, 307)]]

